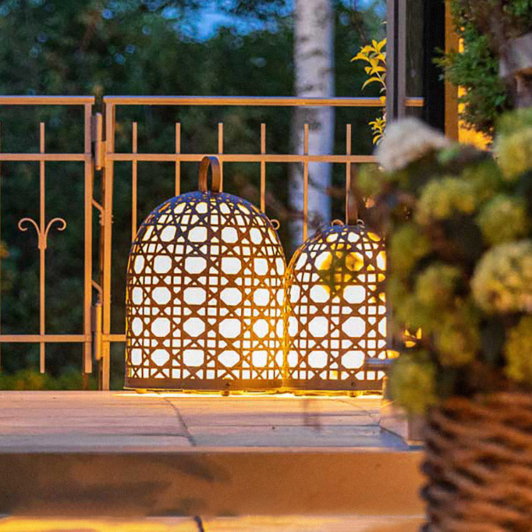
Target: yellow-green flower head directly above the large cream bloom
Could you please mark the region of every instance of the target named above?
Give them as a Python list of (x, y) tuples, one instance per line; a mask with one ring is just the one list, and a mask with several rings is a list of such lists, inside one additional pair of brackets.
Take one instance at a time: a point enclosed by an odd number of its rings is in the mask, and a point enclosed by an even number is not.
[(477, 223), (491, 245), (523, 238), (528, 232), (525, 203), (522, 199), (499, 194), (482, 207)]

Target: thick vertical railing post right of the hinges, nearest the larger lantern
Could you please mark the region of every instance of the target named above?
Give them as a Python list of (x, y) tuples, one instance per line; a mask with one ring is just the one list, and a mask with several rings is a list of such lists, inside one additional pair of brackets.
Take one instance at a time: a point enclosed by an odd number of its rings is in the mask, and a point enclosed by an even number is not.
[[(106, 131), (106, 153), (114, 151), (114, 131), (115, 131), (115, 106), (106, 102), (105, 107), (105, 131)], [(104, 228), (102, 238), (102, 262), (101, 279), (103, 290), (103, 315), (102, 329), (103, 341), (101, 346), (101, 362), (99, 371), (99, 387), (102, 390), (109, 389), (109, 370), (111, 359), (111, 239), (113, 235), (113, 161), (106, 157), (103, 179), (103, 199), (104, 199)]]

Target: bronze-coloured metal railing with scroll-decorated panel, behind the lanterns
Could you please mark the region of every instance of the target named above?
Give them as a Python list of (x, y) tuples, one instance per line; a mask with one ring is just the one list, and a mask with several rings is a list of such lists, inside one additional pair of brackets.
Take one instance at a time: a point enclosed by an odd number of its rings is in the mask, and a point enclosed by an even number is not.
[[(40, 253), (40, 301), (38, 334), (3, 334), (0, 323), (0, 346), (3, 343), (38, 343), (40, 345), (40, 371), (45, 372), (45, 345), (47, 343), (82, 343), (83, 372), (92, 372), (92, 360), (99, 360), (99, 386), (109, 389), (109, 361), (111, 342), (123, 342), (125, 334), (111, 333), (111, 279), (112, 279), (112, 220), (113, 220), (113, 165), (131, 163), (131, 235), (134, 238), (138, 228), (137, 213), (137, 173), (138, 162), (168, 162), (174, 164), (174, 193), (181, 191), (181, 163), (199, 162), (204, 155), (216, 155), (223, 163), (253, 162), (260, 165), (260, 209), (265, 211), (266, 167), (270, 163), (299, 164), (303, 167), (304, 204), (303, 237), (306, 238), (308, 226), (309, 163), (326, 162), (345, 165), (345, 211), (348, 213), (348, 192), (350, 190), (351, 165), (374, 162), (372, 155), (353, 154), (352, 127), (345, 125), (345, 153), (316, 155), (309, 153), (309, 124), (303, 128), (303, 148), (301, 153), (266, 153), (266, 123), (260, 125), (260, 143), (257, 153), (224, 153), (223, 123), (218, 123), (217, 153), (182, 153), (181, 123), (174, 124), (174, 153), (139, 153), (138, 123), (132, 122), (131, 152), (121, 153), (115, 150), (116, 109), (121, 106), (253, 106), (253, 107), (334, 107), (334, 108), (379, 108), (379, 98), (299, 98), (293, 96), (104, 96), (104, 113), (93, 113), (93, 96), (0, 96), (1, 106), (82, 106), (84, 109), (84, 150), (82, 153), (45, 153), (45, 126), (40, 125), (40, 150), (38, 153), (4, 153), (0, 149), (0, 162), (37, 162), (40, 175), (40, 211), (38, 221), (26, 218), (21, 230), (26, 231), (33, 225), (38, 235)], [(406, 107), (423, 106), (422, 98), (406, 98)], [(1, 135), (0, 135), (1, 143)], [(0, 144), (1, 148), (1, 144)], [(82, 162), (84, 165), (84, 301), (83, 331), (74, 334), (48, 334), (45, 332), (45, 249), (46, 238), (60, 238), (53, 234), (55, 230), (65, 229), (66, 222), (50, 218), (47, 223), (45, 213), (45, 165), (48, 162)], [(94, 171), (101, 170), (101, 201), (94, 198)], [(222, 181), (223, 182), (223, 181)], [(0, 165), (1, 186), (1, 165)], [(92, 209), (100, 216), (100, 253), (98, 280), (92, 272)], [(1, 216), (1, 203), (0, 203)], [(50, 224), (56, 224), (51, 226)], [(64, 223), (65, 226), (61, 226)], [(50, 232), (50, 235), (48, 234)], [(0, 235), (1, 238), (1, 235)], [(0, 258), (1, 275), (1, 258)], [(96, 294), (96, 298), (94, 298)], [(94, 304), (93, 304), (94, 301)], [(1, 316), (0, 316), (1, 318)], [(1, 362), (1, 359), (0, 359)], [(1, 367), (1, 365), (0, 365)]]

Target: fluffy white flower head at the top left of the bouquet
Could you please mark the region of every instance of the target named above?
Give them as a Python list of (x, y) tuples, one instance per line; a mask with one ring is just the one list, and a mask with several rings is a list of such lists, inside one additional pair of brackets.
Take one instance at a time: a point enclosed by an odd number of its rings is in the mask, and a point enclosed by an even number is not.
[(419, 118), (408, 117), (387, 126), (377, 146), (377, 162), (387, 172), (397, 172), (431, 150), (447, 148), (450, 140)]

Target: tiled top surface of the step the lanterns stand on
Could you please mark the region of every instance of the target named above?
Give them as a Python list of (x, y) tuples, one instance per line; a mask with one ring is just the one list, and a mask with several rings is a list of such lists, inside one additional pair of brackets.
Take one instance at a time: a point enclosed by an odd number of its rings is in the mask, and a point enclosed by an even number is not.
[(380, 398), (0, 392), (0, 452), (394, 448)]

